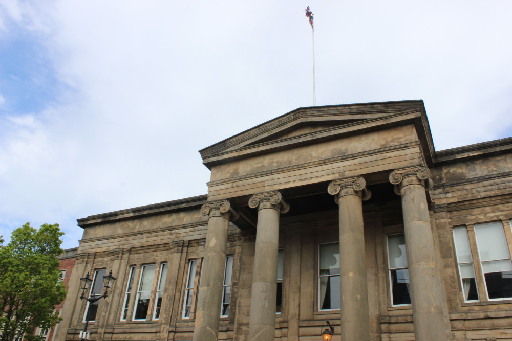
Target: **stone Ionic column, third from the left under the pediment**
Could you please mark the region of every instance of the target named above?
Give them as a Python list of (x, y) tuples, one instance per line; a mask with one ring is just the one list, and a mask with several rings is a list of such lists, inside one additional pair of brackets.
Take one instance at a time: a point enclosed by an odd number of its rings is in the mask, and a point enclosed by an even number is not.
[(327, 191), (339, 205), (339, 291), (342, 340), (369, 340), (368, 284), (362, 201), (370, 198), (364, 178), (333, 181)]

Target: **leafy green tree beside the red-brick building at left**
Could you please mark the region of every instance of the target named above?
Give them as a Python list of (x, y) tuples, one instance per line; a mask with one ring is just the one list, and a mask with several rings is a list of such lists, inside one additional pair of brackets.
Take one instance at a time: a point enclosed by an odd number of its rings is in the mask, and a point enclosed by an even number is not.
[(1, 341), (42, 340), (32, 335), (34, 328), (49, 329), (60, 321), (54, 309), (66, 298), (57, 259), (63, 234), (58, 224), (37, 230), (26, 223), (7, 245), (0, 238)]

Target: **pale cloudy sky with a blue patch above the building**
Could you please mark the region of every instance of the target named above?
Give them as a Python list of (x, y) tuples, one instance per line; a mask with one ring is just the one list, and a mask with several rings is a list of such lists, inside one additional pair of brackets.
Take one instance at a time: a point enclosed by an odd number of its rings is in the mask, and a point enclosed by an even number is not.
[(0, 1), (0, 235), (207, 193), (198, 150), (298, 107), (422, 99), (512, 136), (512, 2)]

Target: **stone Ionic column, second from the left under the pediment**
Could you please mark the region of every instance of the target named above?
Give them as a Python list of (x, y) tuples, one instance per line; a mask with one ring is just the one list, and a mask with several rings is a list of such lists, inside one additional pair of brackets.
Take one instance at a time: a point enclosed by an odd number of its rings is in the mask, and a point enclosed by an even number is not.
[(279, 215), (289, 210), (281, 193), (253, 195), (249, 207), (258, 207), (252, 275), (249, 341), (273, 341), (278, 276)]

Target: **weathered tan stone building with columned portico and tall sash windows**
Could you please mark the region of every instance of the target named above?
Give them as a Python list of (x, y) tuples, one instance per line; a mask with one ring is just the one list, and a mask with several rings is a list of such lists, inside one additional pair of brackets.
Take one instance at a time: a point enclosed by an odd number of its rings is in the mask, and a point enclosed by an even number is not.
[(298, 108), (200, 153), (207, 195), (78, 219), (56, 340), (88, 309), (96, 340), (512, 339), (512, 138), (435, 151), (402, 101)]

